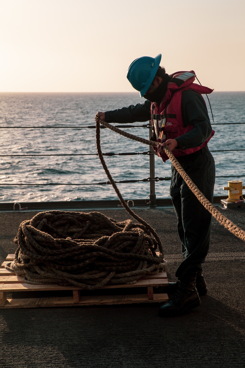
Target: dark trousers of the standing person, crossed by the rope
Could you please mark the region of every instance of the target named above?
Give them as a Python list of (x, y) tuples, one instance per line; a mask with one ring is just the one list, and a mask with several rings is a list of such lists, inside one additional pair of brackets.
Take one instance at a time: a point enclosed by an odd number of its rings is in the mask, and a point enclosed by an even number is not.
[[(183, 169), (205, 197), (213, 202), (215, 160), (204, 147), (177, 158)], [(172, 165), (170, 195), (178, 218), (177, 230), (182, 243), (183, 262), (176, 271), (180, 280), (190, 270), (202, 270), (208, 254), (212, 215), (198, 201)]]

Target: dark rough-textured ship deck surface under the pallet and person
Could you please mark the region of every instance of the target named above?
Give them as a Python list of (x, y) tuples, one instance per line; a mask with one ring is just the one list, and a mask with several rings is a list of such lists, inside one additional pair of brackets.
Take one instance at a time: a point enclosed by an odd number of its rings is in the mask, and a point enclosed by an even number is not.
[[(245, 230), (245, 208), (221, 211)], [(121, 208), (100, 212), (116, 220), (129, 218)], [(167, 276), (174, 281), (181, 255), (173, 208), (135, 212), (161, 237)], [(13, 238), (21, 221), (36, 213), (0, 213), (1, 263), (16, 249)], [(158, 303), (1, 309), (0, 366), (244, 367), (244, 272), (244, 242), (213, 219), (210, 252), (203, 265), (208, 294), (201, 297), (200, 307), (169, 319), (158, 317)]]

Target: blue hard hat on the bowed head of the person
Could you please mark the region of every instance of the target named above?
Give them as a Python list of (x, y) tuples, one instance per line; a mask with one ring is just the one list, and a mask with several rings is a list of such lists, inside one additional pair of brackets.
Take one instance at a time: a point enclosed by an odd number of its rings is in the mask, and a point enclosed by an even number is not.
[(155, 58), (142, 56), (135, 59), (127, 70), (127, 79), (134, 89), (140, 92), (143, 97), (149, 86), (152, 84), (158, 70), (162, 54), (158, 54)]

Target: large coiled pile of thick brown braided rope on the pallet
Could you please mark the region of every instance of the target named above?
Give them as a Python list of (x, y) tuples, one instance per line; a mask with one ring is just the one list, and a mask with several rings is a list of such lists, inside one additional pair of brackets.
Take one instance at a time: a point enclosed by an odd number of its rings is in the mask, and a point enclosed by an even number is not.
[(6, 269), (29, 284), (58, 283), (95, 290), (134, 284), (165, 270), (147, 227), (116, 222), (99, 212), (40, 212), (22, 222), (14, 261)]

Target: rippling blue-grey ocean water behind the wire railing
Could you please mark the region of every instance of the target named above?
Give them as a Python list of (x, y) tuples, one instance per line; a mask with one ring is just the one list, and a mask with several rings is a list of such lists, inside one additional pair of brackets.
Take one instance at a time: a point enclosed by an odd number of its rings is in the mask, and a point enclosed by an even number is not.
[[(213, 92), (209, 95), (214, 123), (245, 123), (245, 92)], [(114, 110), (142, 103), (138, 93), (0, 93), (0, 155), (96, 153), (97, 111)], [(207, 103), (208, 105), (208, 103)], [(209, 109), (209, 105), (208, 105)], [(210, 111), (210, 109), (209, 109)], [(211, 117), (211, 114), (209, 114)], [(135, 123), (141, 125), (144, 123)], [(38, 128), (42, 125), (52, 129)], [(72, 128), (55, 128), (69, 125)], [(21, 126), (21, 129), (2, 127)], [(26, 128), (32, 126), (33, 128)], [(210, 150), (245, 148), (245, 124), (213, 125)], [(124, 129), (144, 138), (148, 128)], [(108, 129), (101, 130), (102, 152), (146, 152), (148, 146), (131, 141)], [(244, 175), (245, 151), (212, 152), (217, 176)], [(105, 156), (115, 180), (149, 177), (149, 156)], [(170, 176), (169, 160), (155, 156), (155, 176)], [(223, 195), (229, 178), (216, 178), (215, 195)], [(111, 185), (71, 185), (98, 183), (108, 178), (98, 156), (0, 157), (0, 202), (80, 201), (116, 199)], [(25, 185), (9, 185), (9, 184)], [(42, 185), (64, 183), (66, 185)], [(29, 184), (38, 184), (32, 186)], [(170, 181), (156, 183), (157, 198), (169, 198)], [(147, 198), (149, 183), (118, 184), (129, 199)]]

